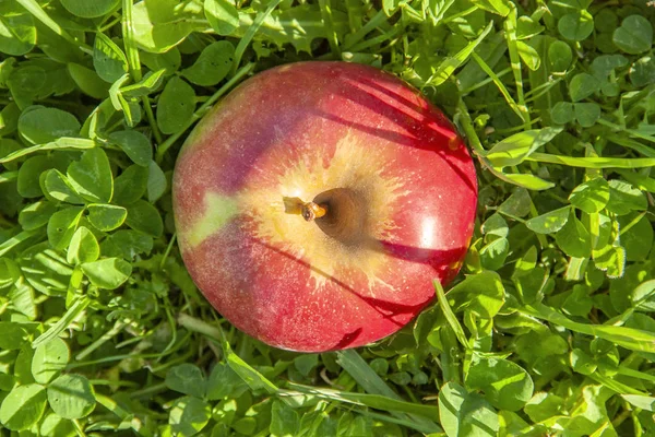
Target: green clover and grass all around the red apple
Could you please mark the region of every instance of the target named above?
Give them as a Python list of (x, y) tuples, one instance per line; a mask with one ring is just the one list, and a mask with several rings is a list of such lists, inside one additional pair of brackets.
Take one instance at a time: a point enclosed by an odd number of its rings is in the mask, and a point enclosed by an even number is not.
[[(655, 435), (654, 23), (645, 0), (0, 2), (0, 435)], [(478, 164), (462, 274), (356, 351), (235, 330), (171, 220), (194, 122), (309, 59), (403, 78)]]

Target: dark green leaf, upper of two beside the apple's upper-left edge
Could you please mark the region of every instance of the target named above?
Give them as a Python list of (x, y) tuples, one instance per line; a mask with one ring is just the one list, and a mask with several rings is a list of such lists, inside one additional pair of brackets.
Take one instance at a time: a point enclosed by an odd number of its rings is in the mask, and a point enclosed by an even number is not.
[[(216, 0), (210, 0), (216, 1)], [(189, 82), (201, 86), (212, 86), (227, 76), (235, 57), (235, 46), (228, 40), (219, 40), (205, 47), (195, 62), (181, 74)]]

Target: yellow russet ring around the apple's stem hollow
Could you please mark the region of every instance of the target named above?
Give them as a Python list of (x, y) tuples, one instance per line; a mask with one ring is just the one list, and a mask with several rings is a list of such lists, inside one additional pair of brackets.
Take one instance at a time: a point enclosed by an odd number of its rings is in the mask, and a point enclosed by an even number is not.
[[(352, 287), (355, 280), (352, 274), (356, 271), (366, 274), (371, 295), (373, 285), (383, 283), (380, 272), (386, 255), (380, 241), (389, 240), (390, 231), (395, 226), (392, 217), (397, 199), (406, 191), (400, 178), (383, 176), (388, 165), (384, 153), (367, 147), (362, 141), (354, 134), (346, 134), (336, 144), (329, 162), (320, 149), (301, 161), (281, 156), (277, 160), (282, 163), (277, 185), (262, 184), (258, 178), (265, 176), (251, 174), (250, 188), (240, 197), (242, 211), (257, 224), (258, 238), (307, 262), (315, 288), (320, 288), (327, 279)], [(283, 198), (311, 201), (335, 188), (353, 190), (367, 205), (361, 243), (346, 245), (325, 235), (317, 223), (285, 213)]]

